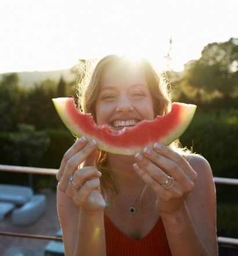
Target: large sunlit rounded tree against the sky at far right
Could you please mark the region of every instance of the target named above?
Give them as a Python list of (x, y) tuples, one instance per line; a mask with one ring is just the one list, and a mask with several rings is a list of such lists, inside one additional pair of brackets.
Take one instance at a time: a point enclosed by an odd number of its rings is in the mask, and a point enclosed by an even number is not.
[(204, 97), (219, 95), (233, 97), (238, 81), (238, 38), (227, 42), (214, 42), (204, 47), (199, 60), (185, 66), (183, 92)]

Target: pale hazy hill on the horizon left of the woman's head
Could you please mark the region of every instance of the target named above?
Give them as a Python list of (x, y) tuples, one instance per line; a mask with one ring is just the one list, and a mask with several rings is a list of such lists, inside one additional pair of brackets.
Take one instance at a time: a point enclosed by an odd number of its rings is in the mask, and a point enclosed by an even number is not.
[[(9, 73), (6, 73), (9, 74)], [(63, 76), (64, 80), (67, 82), (75, 81), (76, 75), (71, 73), (70, 69), (65, 70), (54, 70), (54, 71), (34, 71), (34, 72), (19, 72), (19, 84), (21, 86), (26, 86), (27, 88), (32, 87), (35, 83), (39, 83), (46, 79), (51, 79), (55, 81), (59, 81), (60, 77)], [(2, 79), (2, 75), (0, 74), (0, 80)]]

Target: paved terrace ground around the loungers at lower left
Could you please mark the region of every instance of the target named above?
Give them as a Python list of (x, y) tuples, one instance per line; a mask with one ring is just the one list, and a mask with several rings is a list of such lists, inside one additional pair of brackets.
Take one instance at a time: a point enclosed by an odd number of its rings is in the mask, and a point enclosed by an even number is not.
[[(41, 192), (46, 196), (46, 211), (38, 219), (37, 222), (29, 226), (14, 226), (11, 222), (10, 214), (0, 221), (0, 230), (8, 232), (31, 233), (36, 235), (55, 235), (60, 229), (59, 220), (56, 210), (56, 193), (55, 192)], [(13, 248), (29, 248), (38, 249), (35, 251), (42, 251), (49, 240), (26, 239), (20, 237), (0, 236), (0, 255), (4, 255), (6, 251), (13, 251)], [(10, 256), (10, 254), (8, 254)], [(16, 255), (16, 254), (14, 254)], [(23, 255), (23, 254), (17, 254)]]

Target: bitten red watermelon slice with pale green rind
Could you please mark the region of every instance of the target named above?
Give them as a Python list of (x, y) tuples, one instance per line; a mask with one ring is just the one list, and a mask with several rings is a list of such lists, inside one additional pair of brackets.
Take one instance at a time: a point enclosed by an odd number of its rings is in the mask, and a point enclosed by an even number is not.
[(74, 98), (52, 100), (60, 118), (74, 135), (85, 136), (88, 141), (95, 139), (99, 149), (124, 155), (134, 155), (156, 142), (169, 145), (183, 134), (196, 110), (193, 104), (172, 103), (170, 113), (165, 116), (114, 131), (109, 125), (96, 125), (91, 114), (80, 113)]

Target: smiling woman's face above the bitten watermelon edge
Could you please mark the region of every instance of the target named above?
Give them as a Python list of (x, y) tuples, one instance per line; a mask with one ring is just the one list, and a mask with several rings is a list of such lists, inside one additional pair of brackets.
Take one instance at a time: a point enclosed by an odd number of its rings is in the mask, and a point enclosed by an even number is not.
[(97, 124), (108, 124), (114, 130), (154, 119), (152, 95), (138, 68), (108, 68), (102, 75), (95, 107)]

